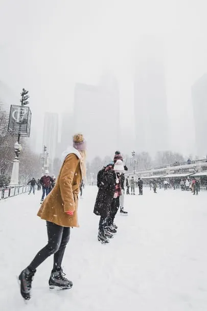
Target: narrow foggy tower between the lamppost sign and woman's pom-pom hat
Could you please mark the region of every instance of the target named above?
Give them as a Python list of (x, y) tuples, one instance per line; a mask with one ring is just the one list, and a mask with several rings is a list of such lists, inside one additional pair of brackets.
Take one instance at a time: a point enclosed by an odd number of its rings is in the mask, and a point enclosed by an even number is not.
[(45, 113), (44, 114), (44, 130), (43, 130), (43, 146), (47, 146), (49, 153), (49, 164), (53, 166), (53, 161), (56, 156), (56, 149), (58, 144), (58, 114)]

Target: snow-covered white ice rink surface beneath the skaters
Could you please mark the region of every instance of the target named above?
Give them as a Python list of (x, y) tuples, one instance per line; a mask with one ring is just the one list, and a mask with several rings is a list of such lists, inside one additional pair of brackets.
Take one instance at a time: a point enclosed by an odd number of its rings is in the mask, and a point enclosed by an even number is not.
[(207, 310), (207, 192), (144, 188), (125, 196), (128, 216), (116, 217), (109, 245), (97, 241), (93, 214), (96, 187), (79, 201), (80, 228), (72, 229), (63, 269), (69, 291), (49, 291), (52, 256), (38, 268), (25, 305), (16, 276), (47, 243), (36, 216), (40, 192), (0, 202), (1, 311), (187, 311)]

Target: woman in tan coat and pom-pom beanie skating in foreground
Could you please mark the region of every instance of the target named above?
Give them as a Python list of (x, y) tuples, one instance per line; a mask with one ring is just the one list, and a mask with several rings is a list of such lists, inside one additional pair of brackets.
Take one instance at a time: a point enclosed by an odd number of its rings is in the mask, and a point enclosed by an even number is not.
[(19, 275), (21, 295), (30, 299), (32, 278), (36, 268), (54, 254), (54, 265), (49, 279), (50, 288), (69, 289), (73, 283), (64, 277), (61, 268), (71, 227), (78, 225), (78, 193), (85, 174), (85, 141), (78, 134), (73, 138), (73, 147), (63, 153), (63, 164), (53, 190), (44, 199), (38, 216), (46, 220), (48, 244), (41, 249), (28, 267)]

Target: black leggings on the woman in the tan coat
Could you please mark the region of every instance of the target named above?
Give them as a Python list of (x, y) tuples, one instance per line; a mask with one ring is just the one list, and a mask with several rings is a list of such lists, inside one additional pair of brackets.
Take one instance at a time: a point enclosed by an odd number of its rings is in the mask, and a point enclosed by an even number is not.
[(53, 272), (61, 268), (65, 248), (70, 239), (70, 229), (47, 221), (48, 244), (37, 253), (28, 268), (34, 271), (52, 254), (54, 254)]

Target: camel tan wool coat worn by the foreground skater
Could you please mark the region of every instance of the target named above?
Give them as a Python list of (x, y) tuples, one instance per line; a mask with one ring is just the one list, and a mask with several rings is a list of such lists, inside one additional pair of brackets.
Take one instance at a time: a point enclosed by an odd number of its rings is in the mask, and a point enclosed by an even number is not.
[[(80, 159), (80, 153), (75, 148), (66, 155), (55, 187), (44, 199), (37, 213), (41, 219), (62, 227), (79, 227), (78, 193), (82, 181)], [(67, 215), (67, 211), (73, 211), (73, 216)]]

